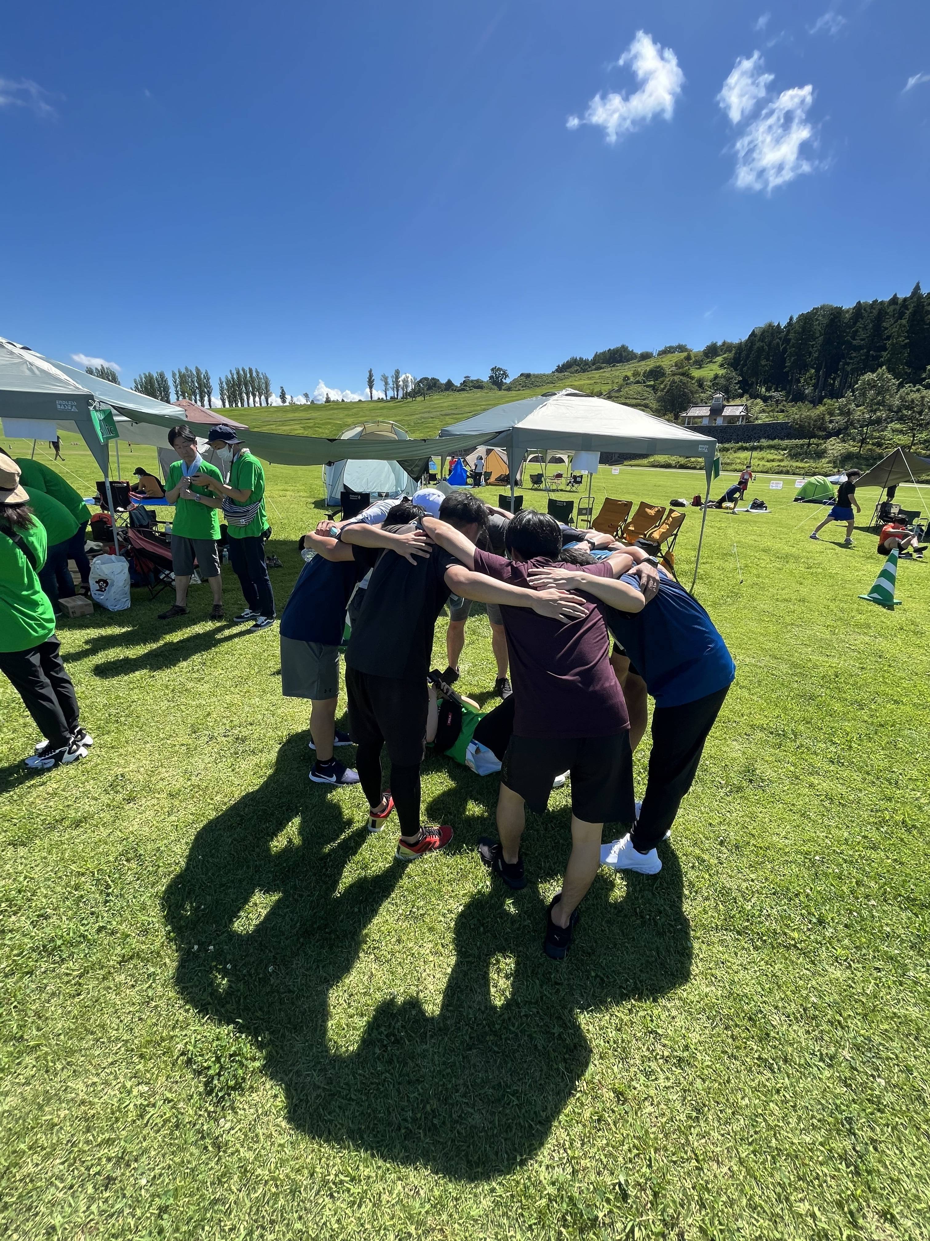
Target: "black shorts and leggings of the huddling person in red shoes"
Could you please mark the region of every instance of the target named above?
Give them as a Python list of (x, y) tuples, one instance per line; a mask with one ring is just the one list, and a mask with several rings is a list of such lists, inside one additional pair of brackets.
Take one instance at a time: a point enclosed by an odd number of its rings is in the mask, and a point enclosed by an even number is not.
[(368, 805), (381, 800), (381, 752), (391, 756), (391, 795), (402, 836), (420, 829), (420, 763), (427, 735), (429, 694), (425, 676), (402, 680), (346, 668), (348, 726), (357, 745), (358, 779)]

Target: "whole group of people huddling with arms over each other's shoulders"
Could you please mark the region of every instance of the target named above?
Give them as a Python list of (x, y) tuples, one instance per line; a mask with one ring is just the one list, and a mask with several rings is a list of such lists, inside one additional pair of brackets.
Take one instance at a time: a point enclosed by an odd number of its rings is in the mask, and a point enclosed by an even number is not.
[[(314, 555), (281, 614), (281, 688), (311, 701), (310, 779), (361, 783), (370, 830), (396, 814), (397, 856), (412, 861), (453, 839), (451, 827), (422, 822), (428, 743), (479, 773), (500, 771), (497, 836), (484, 836), (479, 854), (511, 889), (527, 882), (526, 807), (544, 812), (552, 788), (570, 782), (572, 851), (544, 941), (560, 959), (600, 865), (661, 870), (656, 846), (734, 676), (709, 616), (644, 550), (533, 509), (511, 516), (470, 491), (427, 488), (413, 500), (379, 501), (348, 521), (321, 522), (300, 544)], [(487, 714), (454, 688), (472, 602), (486, 604), (491, 622), (501, 702)], [(440, 673), (430, 664), (445, 604), (449, 666)], [(348, 733), (336, 730), (343, 645)], [(637, 803), (632, 751), (647, 695), (652, 751)], [(351, 743), (355, 768), (335, 757)], [(622, 829), (609, 844), (605, 824)]]

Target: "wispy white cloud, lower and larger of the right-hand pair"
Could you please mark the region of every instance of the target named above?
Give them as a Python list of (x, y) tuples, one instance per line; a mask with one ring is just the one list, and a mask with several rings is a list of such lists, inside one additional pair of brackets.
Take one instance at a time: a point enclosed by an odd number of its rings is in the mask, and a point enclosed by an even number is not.
[(801, 154), (813, 139), (807, 113), (813, 103), (813, 87), (796, 86), (768, 104), (735, 143), (738, 190), (764, 190), (766, 194), (786, 185), (815, 165)]

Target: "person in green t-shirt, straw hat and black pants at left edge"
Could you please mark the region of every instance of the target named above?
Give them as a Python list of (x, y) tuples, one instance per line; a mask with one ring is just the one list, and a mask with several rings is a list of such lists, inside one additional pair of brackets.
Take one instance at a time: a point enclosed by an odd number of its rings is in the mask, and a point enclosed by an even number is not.
[(0, 452), (0, 673), (45, 738), (25, 759), (31, 771), (77, 762), (93, 745), (61, 659), (52, 604), (38, 583), (46, 550), (45, 526), (32, 515), (20, 468)]

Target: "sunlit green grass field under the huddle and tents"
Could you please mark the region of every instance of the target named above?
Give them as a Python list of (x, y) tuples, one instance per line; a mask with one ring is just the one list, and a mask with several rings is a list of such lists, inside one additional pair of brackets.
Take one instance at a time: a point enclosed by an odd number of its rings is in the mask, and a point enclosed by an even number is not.
[[(280, 608), (320, 470), (268, 480)], [(595, 494), (699, 489), (624, 468)], [(180, 625), (140, 591), (62, 623), (77, 767), (22, 774), (36, 732), (0, 680), (4, 1237), (930, 1235), (930, 565), (882, 611), (857, 598), (874, 536), (810, 542), (791, 478), (751, 494), (770, 515), (708, 515), (697, 593), (737, 683), (663, 870), (601, 871), (559, 965), (568, 793), (505, 894), (475, 854), (496, 779), (429, 759), (455, 840), (404, 869), (360, 789), (308, 781), (277, 632), (211, 624), (206, 586)], [(476, 614), (463, 685), (494, 675)]]

